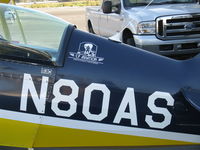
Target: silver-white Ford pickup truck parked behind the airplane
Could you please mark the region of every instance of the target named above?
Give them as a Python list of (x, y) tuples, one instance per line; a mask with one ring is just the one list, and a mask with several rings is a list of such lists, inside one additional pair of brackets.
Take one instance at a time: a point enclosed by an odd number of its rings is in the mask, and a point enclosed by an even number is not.
[(88, 30), (162, 55), (200, 52), (197, 0), (103, 0), (86, 10)]

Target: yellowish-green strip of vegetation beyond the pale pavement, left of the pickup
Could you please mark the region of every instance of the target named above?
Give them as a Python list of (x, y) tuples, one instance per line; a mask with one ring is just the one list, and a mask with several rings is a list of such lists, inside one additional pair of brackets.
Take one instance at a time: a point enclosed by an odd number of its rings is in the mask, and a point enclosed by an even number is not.
[(34, 3), (23, 5), (28, 8), (45, 8), (45, 7), (65, 7), (65, 6), (99, 6), (99, 0), (82, 0), (82, 1), (73, 1), (73, 2), (58, 2), (58, 3)]

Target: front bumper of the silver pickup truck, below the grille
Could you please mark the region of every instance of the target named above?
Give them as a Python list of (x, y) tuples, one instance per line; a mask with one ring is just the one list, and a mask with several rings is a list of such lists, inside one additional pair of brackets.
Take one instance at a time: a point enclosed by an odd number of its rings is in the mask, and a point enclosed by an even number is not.
[(182, 55), (200, 52), (200, 38), (160, 40), (155, 35), (133, 35), (136, 47), (161, 55)]

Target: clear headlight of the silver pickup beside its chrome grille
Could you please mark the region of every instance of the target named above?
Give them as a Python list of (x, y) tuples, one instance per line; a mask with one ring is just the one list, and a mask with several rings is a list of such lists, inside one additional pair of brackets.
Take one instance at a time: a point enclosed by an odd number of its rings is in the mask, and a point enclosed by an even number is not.
[(155, 21), (140, 22), (138, 24), (138, 34), (155, 34)]

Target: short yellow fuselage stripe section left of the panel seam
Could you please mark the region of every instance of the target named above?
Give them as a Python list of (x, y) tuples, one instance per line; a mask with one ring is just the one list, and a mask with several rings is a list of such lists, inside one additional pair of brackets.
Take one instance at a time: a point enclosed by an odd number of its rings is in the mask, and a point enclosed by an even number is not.
[(0, 119), (0, 145), (32, 147), (38, 124)]

